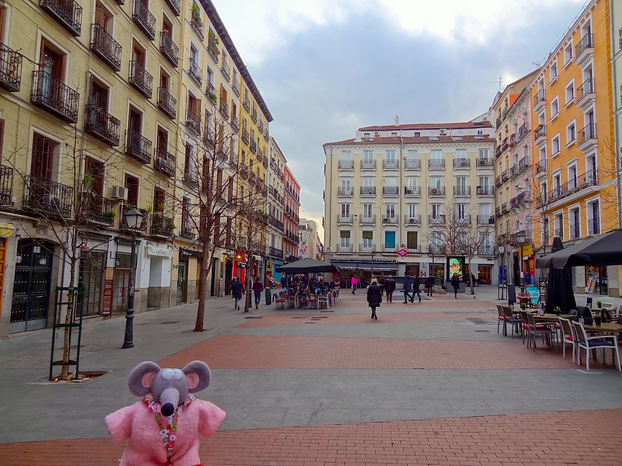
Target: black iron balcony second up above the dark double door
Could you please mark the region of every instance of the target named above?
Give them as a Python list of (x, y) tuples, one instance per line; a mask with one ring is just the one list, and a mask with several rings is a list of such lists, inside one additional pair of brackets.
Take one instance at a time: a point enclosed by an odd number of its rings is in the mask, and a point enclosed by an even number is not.
[(80, 94), (45, 71), (32, 72), (30, 102), (64, 121), (78, 121)]

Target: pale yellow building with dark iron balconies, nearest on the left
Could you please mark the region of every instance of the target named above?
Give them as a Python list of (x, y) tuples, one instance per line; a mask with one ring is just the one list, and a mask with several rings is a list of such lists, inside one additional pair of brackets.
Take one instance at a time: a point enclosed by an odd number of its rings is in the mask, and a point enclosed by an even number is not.
[(169, 305), (179, 15), (175, 0), (2, 2), (0, 337), (49, 324), (68, 255), (85, 314), (123, 312), (131, 206), (135, 307)]

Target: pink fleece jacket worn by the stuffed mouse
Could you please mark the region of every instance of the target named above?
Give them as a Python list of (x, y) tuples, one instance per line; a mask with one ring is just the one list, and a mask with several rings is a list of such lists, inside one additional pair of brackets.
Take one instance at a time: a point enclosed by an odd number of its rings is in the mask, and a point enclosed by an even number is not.
[[(195, 466), (198, 457), (198, 434), (211, 437), (225, 419), (225, 411), (209, 401), (192, 400), (179, 416), (172, 466)], [(166, 449), (154, 413), (144, 401), (121, 408), (106, 416), (108, 431), (116, 442), (129, 439), (119, 466), (166, 466)]]

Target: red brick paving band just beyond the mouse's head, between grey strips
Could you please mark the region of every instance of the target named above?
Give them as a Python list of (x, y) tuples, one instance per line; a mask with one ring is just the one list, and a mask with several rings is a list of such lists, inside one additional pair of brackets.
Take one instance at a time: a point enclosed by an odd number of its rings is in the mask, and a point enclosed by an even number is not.
[(511, 342), (219, 335), (160, 362), (209, 361), (227, 369), (527, 369), (572, 368), (557, 350)]

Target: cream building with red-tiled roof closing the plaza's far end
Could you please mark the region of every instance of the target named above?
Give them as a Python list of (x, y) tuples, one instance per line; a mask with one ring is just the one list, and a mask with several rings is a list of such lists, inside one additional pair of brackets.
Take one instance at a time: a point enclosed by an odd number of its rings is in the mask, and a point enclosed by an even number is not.
[[(440, 230), (456, 221), (481, 228), (485, 240), (471, 267), (492, 283), (492, 134), (486, 114), (470, 122), (364, 127), (353, 139), (325, 144), (324, 255), (341, 268), (342, 281), (372, 273), (444, 280)], [(445, 218), (447, 203), (457, 218)], [(400, 249), (409, 254), (398, 258)]]

